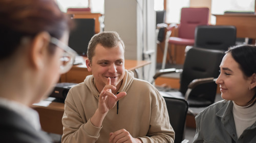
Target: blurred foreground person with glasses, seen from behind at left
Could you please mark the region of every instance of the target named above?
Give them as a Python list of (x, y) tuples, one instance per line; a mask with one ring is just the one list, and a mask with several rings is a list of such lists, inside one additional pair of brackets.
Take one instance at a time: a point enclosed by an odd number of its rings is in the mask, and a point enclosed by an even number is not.
[(50, 142), (30, 106), (73, 65), (69, 20), (52, 0), (1, 0), (0, 17), (1, 142)]

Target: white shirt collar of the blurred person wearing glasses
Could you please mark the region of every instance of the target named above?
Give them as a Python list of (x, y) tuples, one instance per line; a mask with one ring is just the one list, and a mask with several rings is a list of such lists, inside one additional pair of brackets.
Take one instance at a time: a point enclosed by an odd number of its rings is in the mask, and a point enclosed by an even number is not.
[(5, 98), (0, 98), (0, 106), (12, 110), (21, 115), (36, 130), (41, 130), (38, 113), (23, 104)]

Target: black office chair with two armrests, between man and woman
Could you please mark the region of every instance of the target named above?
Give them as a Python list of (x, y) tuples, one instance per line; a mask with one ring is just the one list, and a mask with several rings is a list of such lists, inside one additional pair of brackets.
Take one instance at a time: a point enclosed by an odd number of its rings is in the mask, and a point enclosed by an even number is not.
[(207, 107), (215, 102), (219, 66), (224, 56), (220, 50), (191, 48), (186, 55), (183, 69), (161, 69), (153, 77), (182, 71), (179, 91), (160, 91), (163, 97), (185, 99), (189, 107)]

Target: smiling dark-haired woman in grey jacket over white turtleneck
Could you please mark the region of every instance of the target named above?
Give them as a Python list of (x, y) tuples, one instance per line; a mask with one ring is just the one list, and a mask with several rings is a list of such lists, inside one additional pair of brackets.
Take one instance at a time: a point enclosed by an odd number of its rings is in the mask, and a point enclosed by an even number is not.
[(224, 100), (196, 116), (194, 142), (256, 142), (256, 46), (231, 47), (220, 71)]

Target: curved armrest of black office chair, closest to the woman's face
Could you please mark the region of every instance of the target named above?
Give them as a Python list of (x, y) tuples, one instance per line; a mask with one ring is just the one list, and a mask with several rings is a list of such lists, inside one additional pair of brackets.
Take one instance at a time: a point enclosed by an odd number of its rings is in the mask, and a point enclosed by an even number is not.
[(193, 88), (195, 88), (196, 86), (198, 86), (198, 85), (200, 85), (200, 84), (204, 84), (204, 83), (215, 82), (216, 80), (217, 80), (217, 79), (215, 79), (215, 78), (204, 78), (204, 79), (195, 79), (195, 80), (191, 81), (191, 82), (188, 84), (188, 88), (187, 88), (187, 91), (186, 91), (186, 93), (185, 93), (185, 100), (188, 99), (191, 90), (192, 90)]

